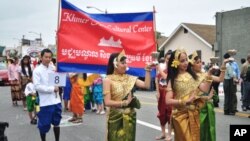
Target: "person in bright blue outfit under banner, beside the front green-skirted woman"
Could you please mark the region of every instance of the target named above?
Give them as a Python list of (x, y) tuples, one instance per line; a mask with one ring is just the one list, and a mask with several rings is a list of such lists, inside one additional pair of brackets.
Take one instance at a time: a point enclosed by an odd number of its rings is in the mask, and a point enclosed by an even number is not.
[(93, 87), (93, 98), (97, 105), (97, 114), (105, 114), (104, 108), (103, 108), (103, 89), (102, 89), (102, 78), (99, 76), (97, 79), (95, 79)]

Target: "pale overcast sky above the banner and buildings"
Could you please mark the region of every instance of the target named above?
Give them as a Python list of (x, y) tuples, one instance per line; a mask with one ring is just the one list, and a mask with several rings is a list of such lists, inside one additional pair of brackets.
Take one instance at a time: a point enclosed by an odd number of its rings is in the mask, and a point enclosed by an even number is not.
[[(68, 0), (89, 13), (156, 13), (156, 30), (169, 36), (180, 23), (215, 25), (216, 12), (250, 7), (250, 0)], [(14, 47), (27, 39), (39, 38), (55, 44), (59, 0), (0, 0), (0, 46)], [(29, 33), (33, 32), (33, 33)]]

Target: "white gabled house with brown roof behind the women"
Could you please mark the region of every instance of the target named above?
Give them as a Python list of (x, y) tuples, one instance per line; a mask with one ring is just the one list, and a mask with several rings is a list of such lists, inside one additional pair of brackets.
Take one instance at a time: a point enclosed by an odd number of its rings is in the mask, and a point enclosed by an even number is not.
[(210, 62), (213, 57), (215, 42), (215, 26), (203, 24), (182, 23), (169, 36), (160, 49), (168, 50), (185, 49), (187, 54), (197, 51), (202, 61)]

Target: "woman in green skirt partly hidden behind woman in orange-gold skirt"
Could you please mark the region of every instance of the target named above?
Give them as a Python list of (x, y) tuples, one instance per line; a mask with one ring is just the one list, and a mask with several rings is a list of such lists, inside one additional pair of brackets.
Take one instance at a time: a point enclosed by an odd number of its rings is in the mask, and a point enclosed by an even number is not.
[[(194, 52), (190, 55), (190, 64), (192, 66), (192, 70), (199, 76), (200, 79), (203, 79), (207, 76), (207, 73), (202, 72), (202, 62), (201, 58), (198, 56), (197, 52)], [(220, 76), (212, 75), (212, 81), (214, 82), (222, 82), (224, 80), (225, 75), (225, 63), (228, 60), (224, 60), (221, 66)], [(212, 69), (212, 68), (211, 68)], [(201, 92), (201, 97), (206, 100), (204, 107), (200, 110), (200, 140), (201, 141), (216, 141), (216, 130), (215, 130), (215, 112), (214, 105), (211, 101), (213, 97), (213, 93), (215, 91), (211, 89), (208, 93)]]

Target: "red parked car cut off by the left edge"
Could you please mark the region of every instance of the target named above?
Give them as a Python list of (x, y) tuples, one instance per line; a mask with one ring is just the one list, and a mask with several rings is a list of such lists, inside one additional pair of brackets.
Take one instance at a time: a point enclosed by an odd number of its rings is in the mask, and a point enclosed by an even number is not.
[(9, 85), (8, 68), (6, 63), (0, 63), (0, 85)]

